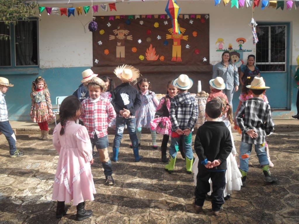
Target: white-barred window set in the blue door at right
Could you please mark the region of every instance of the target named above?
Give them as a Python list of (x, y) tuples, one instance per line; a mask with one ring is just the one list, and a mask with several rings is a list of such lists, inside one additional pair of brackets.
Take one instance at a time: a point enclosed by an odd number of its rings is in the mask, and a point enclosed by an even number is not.
[(258, 25), (256, 65), (260, 71), (286, 71), (286, 25)]

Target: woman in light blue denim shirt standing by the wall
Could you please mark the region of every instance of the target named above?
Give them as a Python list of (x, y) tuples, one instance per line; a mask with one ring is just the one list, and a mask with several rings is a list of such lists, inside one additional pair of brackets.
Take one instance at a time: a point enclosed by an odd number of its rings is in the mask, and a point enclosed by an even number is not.
[(237, 66), (231, 62), (231, 54), (229, 51), (222, 53), (222, 61), (214, 66), (213, 79), (221, 77), (225, 82), (223, 93), (228, 98), (228, 103), (233, 106), (232, 100), (234, 92), (239, 89), (239, 74)]

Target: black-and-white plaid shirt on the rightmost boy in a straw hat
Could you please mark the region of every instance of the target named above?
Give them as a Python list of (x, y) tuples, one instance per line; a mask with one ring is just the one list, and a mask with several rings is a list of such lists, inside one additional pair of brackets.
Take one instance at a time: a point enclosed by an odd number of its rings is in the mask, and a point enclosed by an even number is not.
[[(242, 103), (236, 116), (236, 122), (242, 130), (242, 142), (249, 144), (264, 143), (266, 135), (274, 129), (270, 105), (260, 97), (253, 97)], [(252, 139), (246, 134), (249, 129), (256, 131), (256, 138)]]

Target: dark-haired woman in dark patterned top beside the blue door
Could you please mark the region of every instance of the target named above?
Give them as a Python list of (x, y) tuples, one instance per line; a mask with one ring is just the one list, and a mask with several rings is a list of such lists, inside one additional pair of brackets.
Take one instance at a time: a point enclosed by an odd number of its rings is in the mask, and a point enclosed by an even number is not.
[(245, 79), (253, 80), (254, 76), (260, 77), (260, 70), (254, 65), (255, 56), (253, 54), (248, 55), (247, 65), (241, 65), (241, 71), (239, 75), (239, 81), (241, 85), (244, 84)]

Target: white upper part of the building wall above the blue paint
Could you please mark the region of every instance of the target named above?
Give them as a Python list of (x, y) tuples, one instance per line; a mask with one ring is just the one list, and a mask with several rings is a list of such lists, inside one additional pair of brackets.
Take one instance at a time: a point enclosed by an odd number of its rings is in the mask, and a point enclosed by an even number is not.
[[(166, 14), (165, 6), (167, 1), (139, 1), (139, 2), (120, 2), (116, 4), (117, 11), (103, 11), (99, 7), (98, 13), (94, 16), (110, 15), (146, 15), (146, 14)], [(231, 4), (224, 7), (223, 3), (214, 6), (214, 1), (177, 1), (181, 7), (180, 14), (210, 14), (210, 63), (216, 64), (221, 59), (222, 52), (216, 52), (216, 40), (221, 37), (225, 40), (225, 47), (228, 42), (236, 48), (238, 37), (245, 37), (247, 41), (243, 49), (253, 49), (252, 32), (249, 22), (252, 17), (251, 8), (243, 9), (231, 8)], [(99, 2), (95, 4), (100, 4)], [(64, 4), (64, 5), (42, 5), (49, 7), (78, 7), (90, 5)], [(87, 16), (65, 15), (48, 16), (44, 11), (39, 21), (39, 58), (40, 67), (81, 67), (92, 66), (92, 33), (88, 30), (88, 22), (91, 20), (91, 10)], [(291, 11), (284, 9), (266, 8), (261, 10), (260, 6), (254, 9), (254, 19), (258, 22), (291, 22), (291, 65), (297, 65), (299, 55), (299, 9)], [(83, 25), (86, 24), (86, 33)], [(228, 41), (229, 40), (229, 41)], [(248, 53), (249, 54), (249, 53)], [(243, 58), (247, 58), (243, 54)], [(245, 61), (245, 60), (244, 60)], [(246, 63), (246, 61), (245, 61)]]

